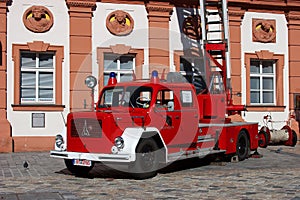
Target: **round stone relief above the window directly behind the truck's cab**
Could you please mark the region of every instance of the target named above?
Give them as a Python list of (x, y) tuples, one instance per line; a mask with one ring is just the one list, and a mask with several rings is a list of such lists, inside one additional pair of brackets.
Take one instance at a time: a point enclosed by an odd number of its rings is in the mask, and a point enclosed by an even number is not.
[(133, 30), (134, 21), (129, 13), (116, 10), (107, 16), (106, 27), (113, 35), (128, 35)]

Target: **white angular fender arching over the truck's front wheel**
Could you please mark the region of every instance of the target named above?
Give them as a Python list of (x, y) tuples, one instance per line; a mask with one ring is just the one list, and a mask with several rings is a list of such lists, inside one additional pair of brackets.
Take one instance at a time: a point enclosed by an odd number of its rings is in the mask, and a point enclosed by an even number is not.
[(168, 155), (167, 154), (168, 150), (167, 150), (166, 144), (165, 144), (164, 140), (162, 139), (159, 130), (155, 127), (126, 128), (122, 134), (122, 138), (124, 139), (124, 148), (122, 149), (120, 154), (130, 154), (130, 160), (135, 161), (136, 160), (135, 149), (136, 149), (136, 147), (140, 141), (140, 138), (142, 137), (144, 132), (156, 132), (159, 135), (159, 137), (165, 147), (164, 148), (165, 155)]

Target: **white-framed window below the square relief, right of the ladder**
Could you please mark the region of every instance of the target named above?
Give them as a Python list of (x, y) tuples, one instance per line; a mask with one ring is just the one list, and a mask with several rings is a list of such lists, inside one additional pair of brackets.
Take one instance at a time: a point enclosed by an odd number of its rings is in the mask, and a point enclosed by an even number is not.
[(250, 60), (250, 103), (275, 105), (276, 62), (274, 60)]

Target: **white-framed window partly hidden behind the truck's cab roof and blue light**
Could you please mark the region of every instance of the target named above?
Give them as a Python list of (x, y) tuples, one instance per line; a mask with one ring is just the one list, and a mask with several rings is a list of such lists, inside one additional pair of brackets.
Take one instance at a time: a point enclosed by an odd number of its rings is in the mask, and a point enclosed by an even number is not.
[(113, 53), (104, 54), (104, 85), (107, 85), (109, 74), (116, 73), (118, 82), (132, 80), (135, 70), (135, 56), (132, 54), (119, 55)]

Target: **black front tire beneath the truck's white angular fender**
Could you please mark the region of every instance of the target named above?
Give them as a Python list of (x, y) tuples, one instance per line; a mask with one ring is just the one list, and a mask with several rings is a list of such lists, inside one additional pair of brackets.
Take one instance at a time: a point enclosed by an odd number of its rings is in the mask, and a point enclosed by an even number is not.
[(136, 148), (136, 161), (130, 166), (135, 179), (146, 179), (156, 176), (159, 167), (160, 150), (152, 139), (143, 139)]

